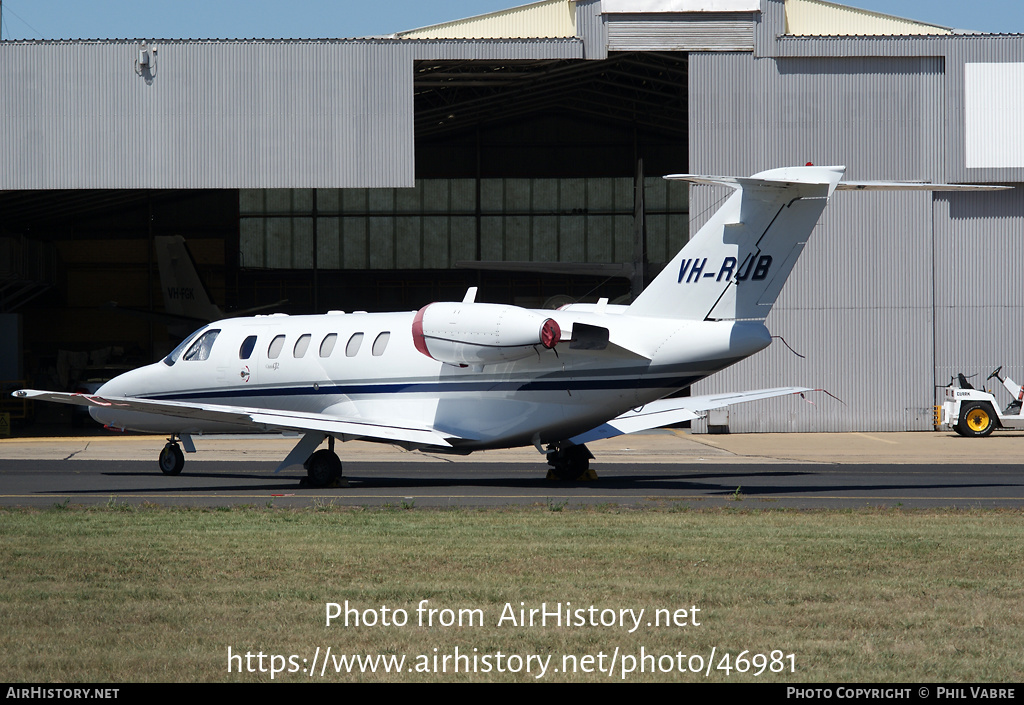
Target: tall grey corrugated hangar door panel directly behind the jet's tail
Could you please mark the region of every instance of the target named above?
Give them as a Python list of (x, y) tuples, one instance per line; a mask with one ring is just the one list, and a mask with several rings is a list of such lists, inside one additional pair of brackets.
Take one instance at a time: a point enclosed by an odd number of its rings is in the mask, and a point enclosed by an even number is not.
[[(846, 164), (854, 179), (939, 180), (942, 70), (935, 57), (691, 54), (690, 168), (749, 174), (813, 162)], [(707, 192), (691, 197), (701, 221), (714, 210)], [(738, 431), (930, 428), (932, 219), (929, 194), (838, 193), (768, 318), (806, 359), (776, 341), (694, 392), (799, 384), (846, 403), (741, 405), (730, 411)]]

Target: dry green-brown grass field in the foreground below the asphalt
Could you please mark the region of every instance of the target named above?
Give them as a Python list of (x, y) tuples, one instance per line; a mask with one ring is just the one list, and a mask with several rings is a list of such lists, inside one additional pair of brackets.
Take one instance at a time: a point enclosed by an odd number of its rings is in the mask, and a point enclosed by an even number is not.
[(1020, 511), (56, 505), (0, 561), (6, 681), (1024, 679)]

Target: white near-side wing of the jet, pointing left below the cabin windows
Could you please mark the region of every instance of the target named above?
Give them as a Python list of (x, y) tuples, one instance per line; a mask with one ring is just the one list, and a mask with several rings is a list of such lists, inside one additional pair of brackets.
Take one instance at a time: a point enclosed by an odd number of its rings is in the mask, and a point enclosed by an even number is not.
[(420, 446), (441, 446), (450, 448), (450, 433), (440, 433), (433, 428), (417, 428), (397, 425), (369, 423), (359, 419), (345, 419), (326, 414), (310, 414), (280, 409), (257, 409), (221, 404), (194, 404), (185, 402), (158, 402), (137, 397), (104, 398), (95, 395), (81, 395), (63, 391), (38, 391), (20, 389), (14, 392), (22, 399), (38, 399), (46, 402), (73, 404), (84, 407), (115, 407), (145, 414), (174, 416), (196, 421), (212, 421), (237, 426), (248, 426), (253, 431), (295, 430), (323, 431), (336, 437), (379, 439), (388, 442), (410, 443)]

